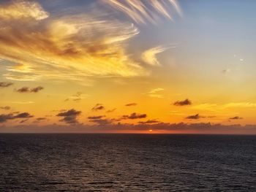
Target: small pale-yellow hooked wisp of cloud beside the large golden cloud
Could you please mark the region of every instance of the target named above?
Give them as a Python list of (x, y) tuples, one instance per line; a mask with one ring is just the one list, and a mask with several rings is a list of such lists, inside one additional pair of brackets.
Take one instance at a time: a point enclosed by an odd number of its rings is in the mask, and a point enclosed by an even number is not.
[(164, 52), (168, 47), (158, 46), (146, 50), (142, 53), (142, 60), (151, 66), (159, 66), (159, 61), (157, 60), (157, 54)]

